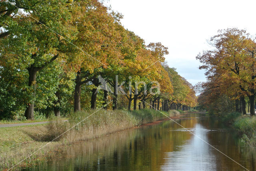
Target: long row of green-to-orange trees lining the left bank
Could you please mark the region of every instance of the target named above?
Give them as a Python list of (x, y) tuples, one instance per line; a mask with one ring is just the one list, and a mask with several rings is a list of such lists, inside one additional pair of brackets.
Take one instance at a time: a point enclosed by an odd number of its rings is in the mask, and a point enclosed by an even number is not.
[(0, 1), (0, 117), (111, 100), (112, 109), (194, 107), (192, 85), (164, 62), (168, 48), (145, 45), (121, 18), (98, 0)]

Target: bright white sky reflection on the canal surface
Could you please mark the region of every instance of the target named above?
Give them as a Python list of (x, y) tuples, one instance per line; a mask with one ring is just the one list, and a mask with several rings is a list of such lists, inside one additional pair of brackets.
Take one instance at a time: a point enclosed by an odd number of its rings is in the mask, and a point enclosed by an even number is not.
[[(176, 131), (184, 130), (186, 129)], [(208, 141), (207, 133), (211, 131), (198, 123), (189, 130), (206, 142)], [(212, 149), (198, 137), (193, 136), (187, 143), (178, 146), (180, 149), (177, 151), (167, 152), (162, 170), (216, 170), (216, 156), (212, 153)]]

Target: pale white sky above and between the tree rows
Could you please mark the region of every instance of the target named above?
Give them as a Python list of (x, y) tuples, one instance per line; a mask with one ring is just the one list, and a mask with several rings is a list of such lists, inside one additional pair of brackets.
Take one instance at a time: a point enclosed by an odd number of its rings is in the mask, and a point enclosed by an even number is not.
[(124, 15), (122, 25), (146, 41), (169, 48), (170, 67), (195, 85), (205, 81), (196, 56), (210, 49), (206, 40), (219, 29), (246, 29), (256, 33), (254, 0), (108, 0)]

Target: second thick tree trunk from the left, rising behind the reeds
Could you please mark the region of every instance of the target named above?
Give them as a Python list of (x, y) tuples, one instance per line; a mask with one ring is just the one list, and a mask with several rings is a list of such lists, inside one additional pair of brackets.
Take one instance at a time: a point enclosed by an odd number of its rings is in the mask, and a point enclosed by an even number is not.
[(76, 74), (76, 86), (75, 86), (75, 94), (74, 94), (74, 111), (81, 111), (80, 105), (81, 98), (81, 72), (77, 72)]

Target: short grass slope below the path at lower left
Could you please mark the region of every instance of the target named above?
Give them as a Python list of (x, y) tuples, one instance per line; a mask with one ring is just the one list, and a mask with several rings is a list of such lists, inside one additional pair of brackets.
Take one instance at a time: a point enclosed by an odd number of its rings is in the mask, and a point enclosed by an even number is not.
[[(46, 141), (36, 141), (30, 136), (42, 136), (44, 131), (47, 131), (43, 125), (0, 128), (0, 131), (0, 170), (11, 168), (47, 143)], [(49, 149), (53, 149), (55, 145), (56, 142), (51, 143), (47, 148), (38, 151), (38, 153), (26, 159), (25, 162), (22, 162), (22, 165), (27, 165), (33, 159), (42, 156)]]

